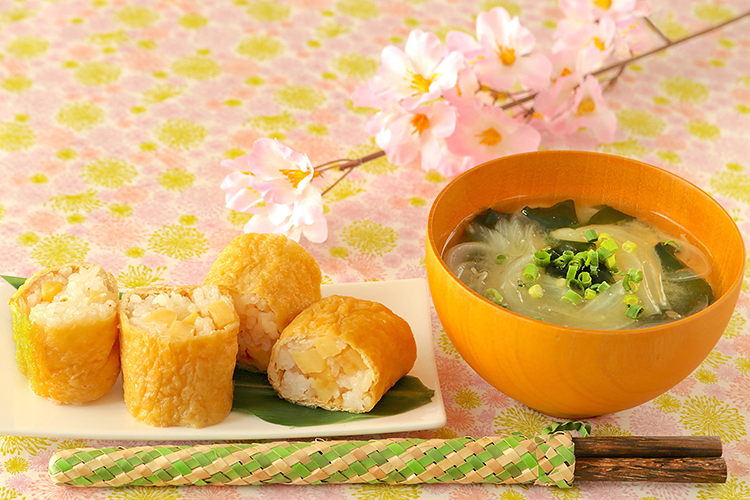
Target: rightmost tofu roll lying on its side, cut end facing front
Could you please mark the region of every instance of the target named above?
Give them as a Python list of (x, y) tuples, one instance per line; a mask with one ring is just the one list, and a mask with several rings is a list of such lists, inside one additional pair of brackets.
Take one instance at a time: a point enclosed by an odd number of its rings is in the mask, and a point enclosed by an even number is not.
[(268, 380), (284, 399), (365, 413), (417, 359), (409, 324), (384, 305), (333, 295), (302, 311), (274, 345)]

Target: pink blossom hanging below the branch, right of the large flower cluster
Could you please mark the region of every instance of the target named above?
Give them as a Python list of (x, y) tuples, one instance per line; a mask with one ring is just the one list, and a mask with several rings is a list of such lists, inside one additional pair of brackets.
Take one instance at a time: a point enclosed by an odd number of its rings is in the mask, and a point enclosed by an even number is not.
[(549, 122), (554, 134), (572, 134), (579, 128), (590, 129), (599, 142), (611, 143), (615, 139), (617, 118), (602, 96), (599, 80), (591, 75), (580, 81), (570, 106)]

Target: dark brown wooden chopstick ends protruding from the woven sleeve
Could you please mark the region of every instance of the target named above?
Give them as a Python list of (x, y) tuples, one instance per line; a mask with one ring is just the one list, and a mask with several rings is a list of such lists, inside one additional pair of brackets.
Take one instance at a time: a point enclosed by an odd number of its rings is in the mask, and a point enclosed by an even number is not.
[(577, 481), (723, 483), (727, 464), (721, 439), (681, 437), (574, 437)]

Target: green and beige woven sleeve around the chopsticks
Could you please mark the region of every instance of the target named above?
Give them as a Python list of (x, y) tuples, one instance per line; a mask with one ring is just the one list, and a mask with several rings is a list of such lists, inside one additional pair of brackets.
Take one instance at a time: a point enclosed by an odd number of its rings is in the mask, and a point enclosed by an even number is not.
[(57, 484), (502, 483), (570, 487), (569, 432), (533, 437), (275, 442), (60, 450)]

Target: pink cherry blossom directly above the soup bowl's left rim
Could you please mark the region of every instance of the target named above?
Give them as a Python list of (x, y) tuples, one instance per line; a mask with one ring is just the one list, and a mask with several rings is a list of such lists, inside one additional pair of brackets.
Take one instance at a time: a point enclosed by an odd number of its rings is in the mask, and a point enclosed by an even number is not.
[(459, 108), (456, 132), (446, 141), (456, 155), (470, 157), (475, 165), (498, 158), (534, 151), (541, 137), (533, 127), (493, 106)]

